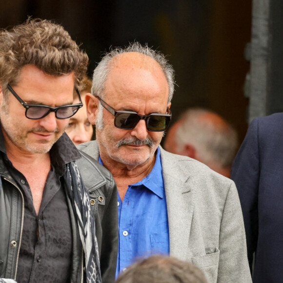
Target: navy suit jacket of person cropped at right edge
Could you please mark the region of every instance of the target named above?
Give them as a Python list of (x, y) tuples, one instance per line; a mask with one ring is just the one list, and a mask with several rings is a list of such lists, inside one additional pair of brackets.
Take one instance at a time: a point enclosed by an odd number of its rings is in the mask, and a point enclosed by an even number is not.
[(283, 113), (254, 119), (232, 166), (254, 283), (283, 283)]

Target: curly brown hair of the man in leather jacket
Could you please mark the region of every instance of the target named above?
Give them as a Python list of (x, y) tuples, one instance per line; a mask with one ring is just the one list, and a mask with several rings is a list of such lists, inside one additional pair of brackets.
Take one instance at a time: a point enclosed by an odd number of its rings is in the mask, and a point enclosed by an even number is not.
[(52, 76), (74, 72), (75, 87), (80, 90), (88, 57), (60, 24), (28, 18), (0, 31), (0, 85), (4, 92), (8, 83), (17, 84), (21, 68), (28, 64)]

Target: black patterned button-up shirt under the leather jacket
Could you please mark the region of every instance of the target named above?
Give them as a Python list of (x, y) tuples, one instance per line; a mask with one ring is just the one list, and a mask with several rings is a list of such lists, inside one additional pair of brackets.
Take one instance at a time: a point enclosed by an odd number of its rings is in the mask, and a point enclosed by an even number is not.
[(38, 215), (28, 182), (7, 159), (0, 137), (0, 151), (3, 153), (10, 174), (24, 196), (18, 283), (70, 282), (72, 229), (62, 176), (66, 170), (65, 164), (76, 160), (79, 153), (64, 135), (50, 150), (52, 168), (46, 180)]

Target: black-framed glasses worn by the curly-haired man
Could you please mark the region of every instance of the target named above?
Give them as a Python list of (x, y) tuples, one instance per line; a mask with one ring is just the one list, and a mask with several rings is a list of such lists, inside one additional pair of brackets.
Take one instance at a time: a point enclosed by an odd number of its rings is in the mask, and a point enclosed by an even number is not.
[(58, 119), (67, 119), (75, 115), (78, 110), (82, 107), (81, 96), (79, 91), (76, 89), (76, 92), (79, 96), (79, 103), (71, 104), (71, 105), (63, 105), (58, 107), (51, 107), (47, 105), (38, 105), (38, 104), (27, 104), (25, 103), (19, 95), (15, 92), (15, 90), (7, 84), (8, 90), (12, 93), (12, 95), (20, 102), (20, 104), (25, 108), (25, 117), (28, 119), (41, 119), (47, 116), (50, 112), (55, 112), (55, 116)]

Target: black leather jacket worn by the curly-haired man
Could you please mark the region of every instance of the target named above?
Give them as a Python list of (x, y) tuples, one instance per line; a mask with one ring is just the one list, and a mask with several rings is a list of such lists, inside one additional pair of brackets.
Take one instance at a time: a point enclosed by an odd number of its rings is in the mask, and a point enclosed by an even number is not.
[[(82, 180), (89, 190), (92, 211), (96, 220), (101, 275), (103, 283), (115, 281), (118, 250), (117, 187), (110, 172), (82, 153), (77, 160)], [(20, 253), (24, 200), (20, 188), (0, 158), (0, 278), (16, 280)], [(69, 207), (70, 202), (67, 200)], [(73, 233), (71, 283), (84, 282), (82, 244), (77, 221), (70, 211)]]

